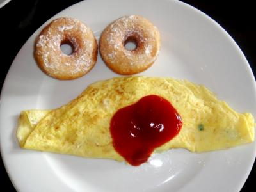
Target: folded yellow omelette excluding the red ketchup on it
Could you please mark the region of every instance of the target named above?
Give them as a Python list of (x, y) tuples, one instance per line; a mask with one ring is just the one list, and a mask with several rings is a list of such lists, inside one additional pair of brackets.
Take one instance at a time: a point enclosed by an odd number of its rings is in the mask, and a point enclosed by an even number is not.
[(17, 129), (20, 147), (124, 161), (113, 147), (111, 118), (147, 95), (168, 100), (182, 118), (179, 133), (154, 152), (172, 148), (207, 152), (254, 140), (252, 114), (237, 113), (205, 86), (170, 77), (131, 76), (93, 83), (57, 109), (22, 111)]

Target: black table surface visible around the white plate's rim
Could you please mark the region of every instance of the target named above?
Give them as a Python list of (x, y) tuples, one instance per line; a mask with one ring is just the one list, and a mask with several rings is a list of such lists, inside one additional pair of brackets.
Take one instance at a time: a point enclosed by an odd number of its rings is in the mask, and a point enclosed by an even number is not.
[[(1, 79), (3, 86), (5, 76), (13, 59), (29, 36), (53, 15), (75, 4), (77, 0), (12, 0), (0, 9), (1, 19)], [(256, 12), (253, 1), (184, 1), (206, 13), (216, 20), (237, 42), (250, 63), (253, 74), (256, 64)], [(0, 158), (1, 188), (15, 191)], [(241, 191), (252, 191), (255, 180), (254, 164), (250, 176)]]

